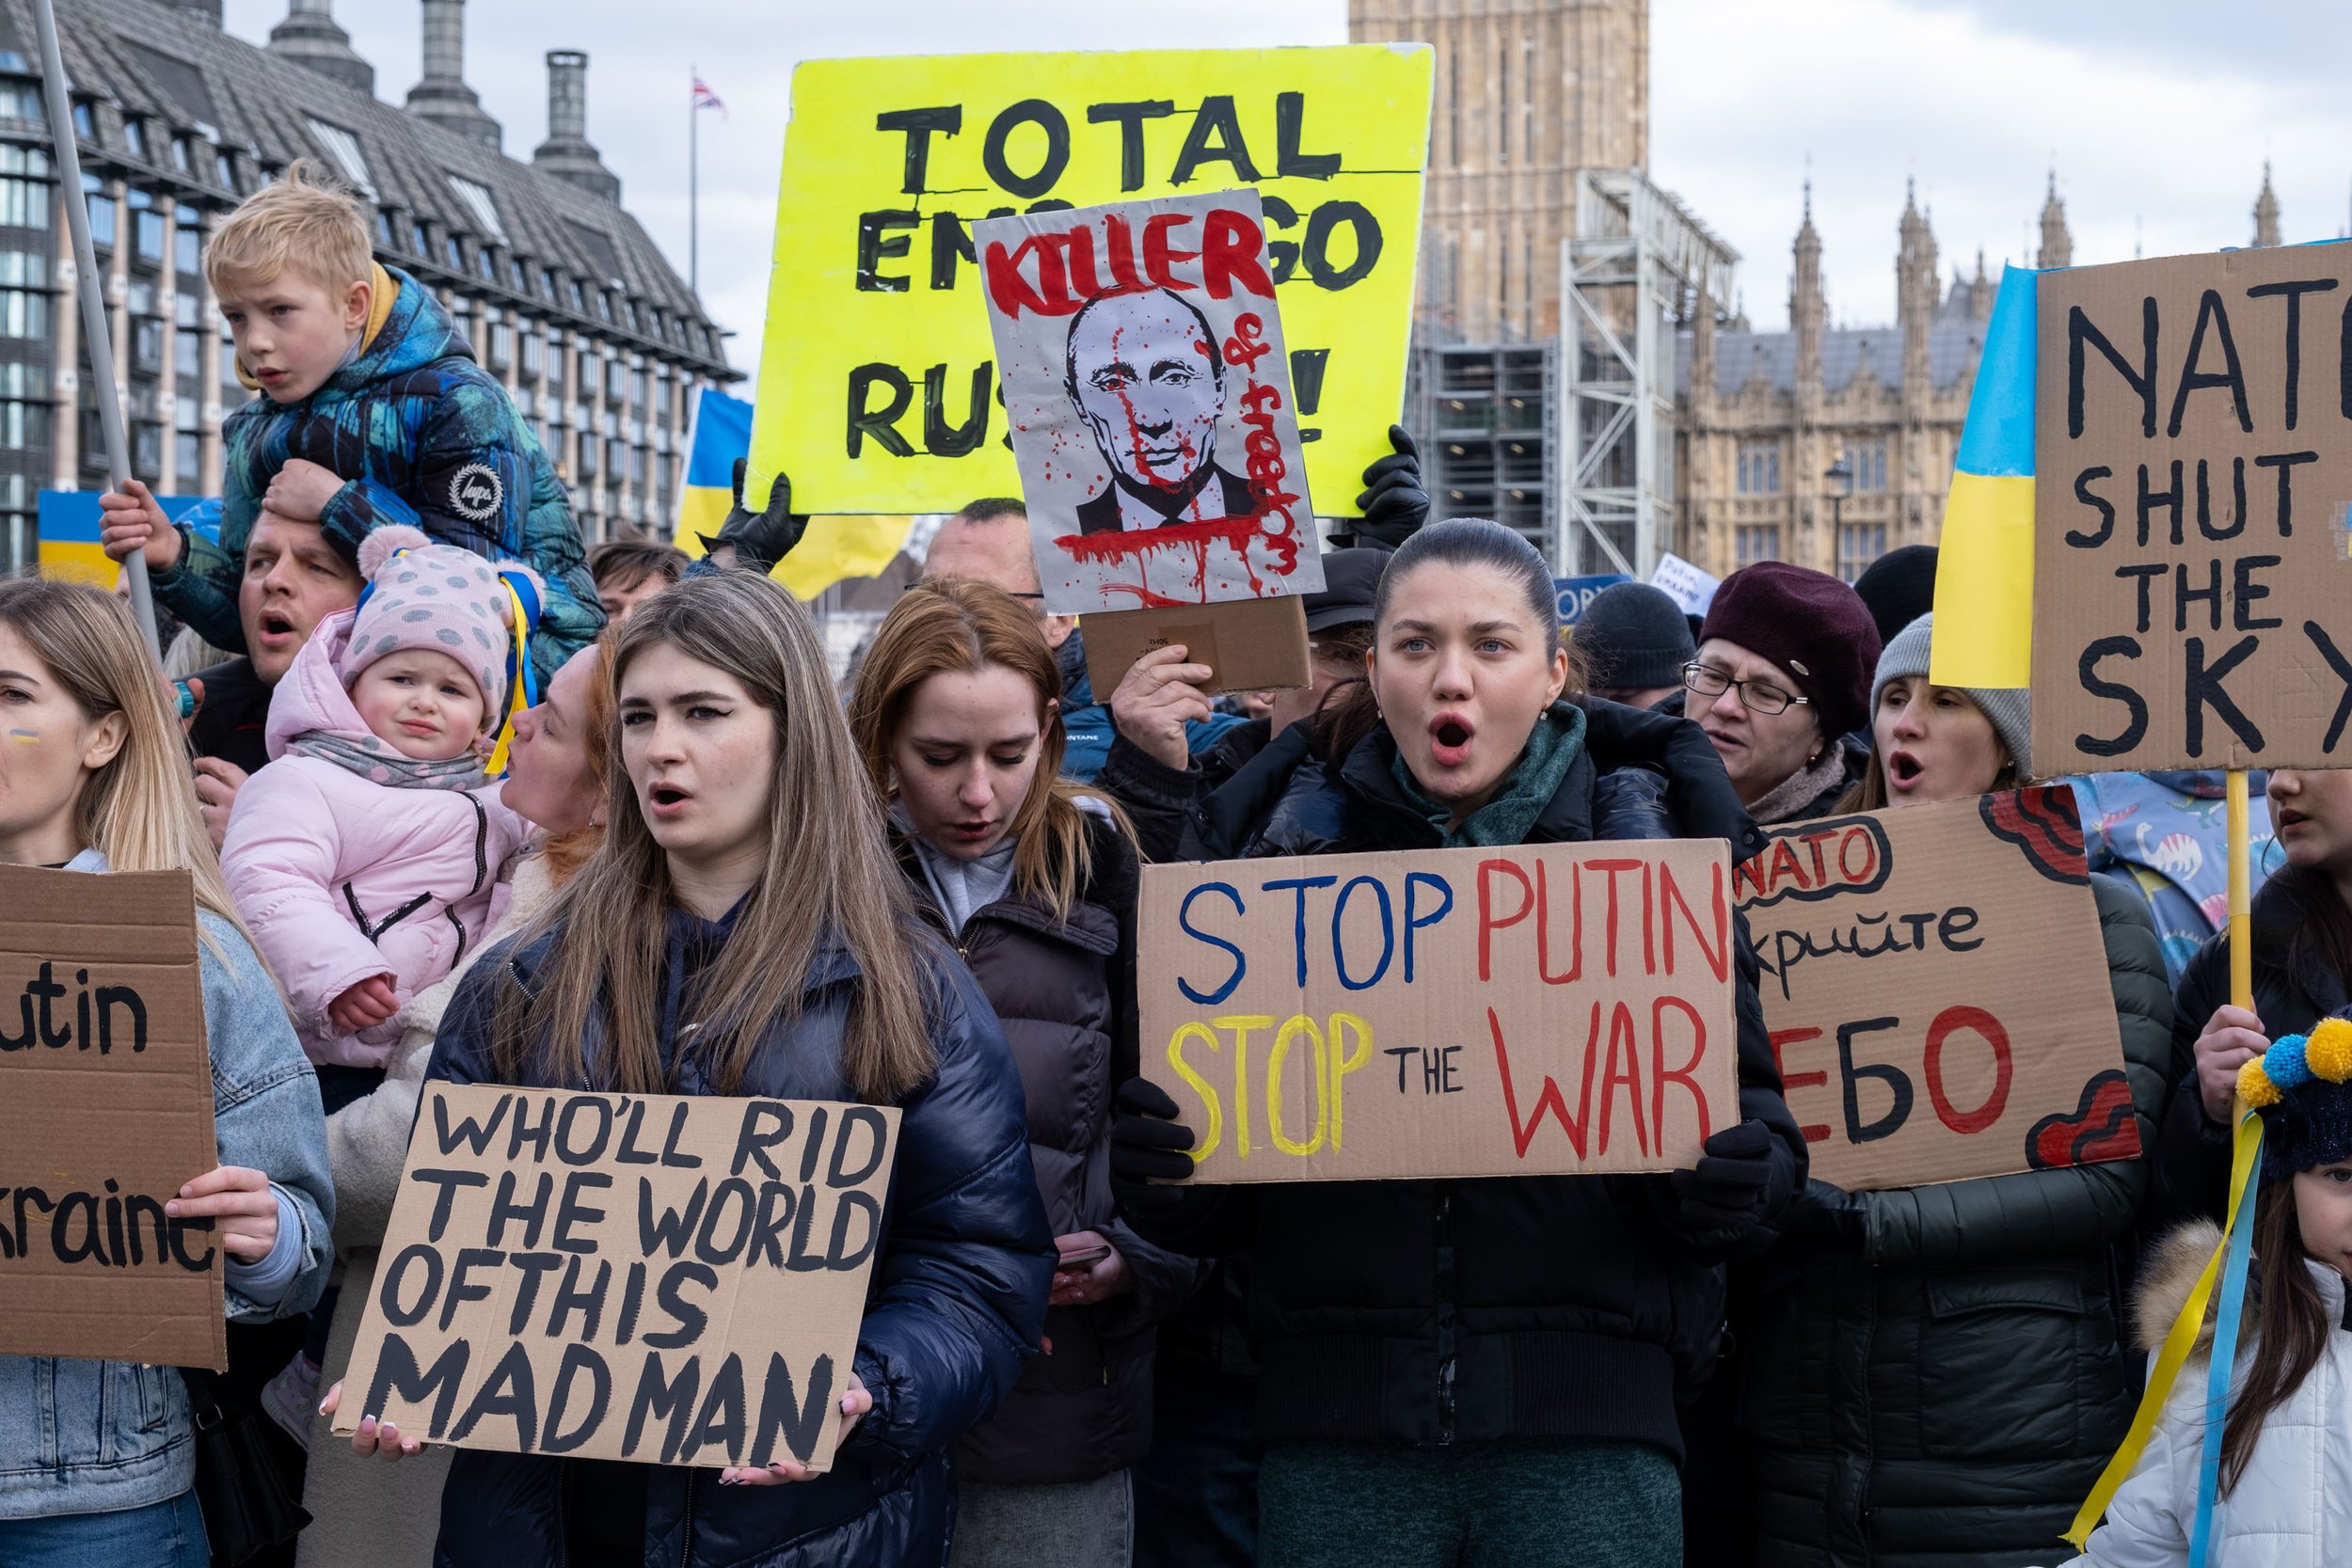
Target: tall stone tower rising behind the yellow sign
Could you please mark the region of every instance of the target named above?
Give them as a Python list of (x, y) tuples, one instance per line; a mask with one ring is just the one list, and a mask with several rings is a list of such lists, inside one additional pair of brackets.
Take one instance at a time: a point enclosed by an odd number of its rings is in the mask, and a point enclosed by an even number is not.
[(1557, 336), (1576, 169), (1649, 162), (1649, 0), (1348, 0), (1348, 38), (1437, 47), (1421, 317)]

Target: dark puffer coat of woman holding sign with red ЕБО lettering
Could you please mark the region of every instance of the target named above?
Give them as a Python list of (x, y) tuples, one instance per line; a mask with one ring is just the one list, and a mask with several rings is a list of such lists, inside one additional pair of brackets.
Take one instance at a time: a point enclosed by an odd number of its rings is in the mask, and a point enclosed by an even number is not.
[[(2091, 884), (2147, 1140), (2166, 1091), (2164, 952), (2138, 893)], [(2145, 1192), (2145, 1161), (1858, 1194), (1811, 1182), (1757, 1267), (1743, 1356), (1757, 1566), (2065, 1556), (2058, 1535), (2131, 1422), (2110, 1258)], [(1863, 1251), (1820, 1251), (1825, 1206), (1860, 1220)]]

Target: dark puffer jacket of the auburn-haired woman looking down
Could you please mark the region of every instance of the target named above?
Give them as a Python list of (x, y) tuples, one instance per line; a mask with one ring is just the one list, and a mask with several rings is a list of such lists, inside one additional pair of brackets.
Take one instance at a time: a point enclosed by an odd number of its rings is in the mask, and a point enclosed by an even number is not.
[[(957, 1481), (1094, 1481), (1141, 1460), (1152, 1443), (1152, 1326), (1183, 1305), (1202, 1269), (1112, 1213), (1110, 1093), (1136, 1072), (1136, 849), (1091, 816), (1087, 839), (1091, 875), (1065, 919), (1042, 898), (1009, 893), (971, 912), (957, 952), (1021, 1072), (1047, 1222), (1056, 1237), (1101, 1232), (1127, 1258), (1134, 1291), (1047, 1307), (1054, 1349), (1030, 1356), (997, 1413), (955, 1446)], [(929, 905), (910, 844), (901, 860)]]

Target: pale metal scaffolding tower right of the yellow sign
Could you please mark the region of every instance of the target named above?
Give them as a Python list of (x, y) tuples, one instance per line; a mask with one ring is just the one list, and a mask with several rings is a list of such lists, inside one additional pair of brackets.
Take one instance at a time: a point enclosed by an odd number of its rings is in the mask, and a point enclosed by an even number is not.
[(1559, 256), (1552, 562), (1649, 578), (1675, 534), (1675, 327), (1722, 313), (1740, 254), (1639, 169), (1578, 169)]

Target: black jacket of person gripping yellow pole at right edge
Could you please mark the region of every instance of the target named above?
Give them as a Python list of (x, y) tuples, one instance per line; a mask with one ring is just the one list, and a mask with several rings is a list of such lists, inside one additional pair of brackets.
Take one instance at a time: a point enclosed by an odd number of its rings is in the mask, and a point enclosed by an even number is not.
[[(2310, 1034), (2321, 1018), (2352, 1004), (2347, 983), (2328, 969), (2317, 945), (2296, 943), (2305, 924), (2300, 889), (2288, 875), (2277, 875), (2253, 893), (2253, 1016), (2272, 1039)], [(2220, 1225), (2230, 1206), (2230, 1128), (2206, 1121), (2197, 1093), (2197, 1037), (2213, 1011), (2230, 1001), (2230, 929), (2206, 938), (2206, 945), (2180, 971), (2173, 990), (2173, 1093), (2157, 1131), (2154, 1197), (2147, 1232), (2161, 1234), (2185, 1220), (2206, 1218)]]

